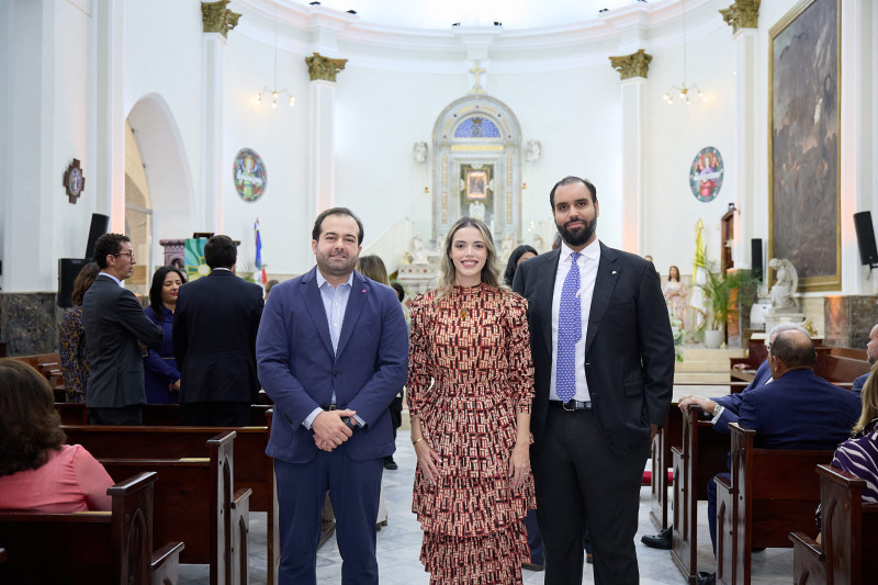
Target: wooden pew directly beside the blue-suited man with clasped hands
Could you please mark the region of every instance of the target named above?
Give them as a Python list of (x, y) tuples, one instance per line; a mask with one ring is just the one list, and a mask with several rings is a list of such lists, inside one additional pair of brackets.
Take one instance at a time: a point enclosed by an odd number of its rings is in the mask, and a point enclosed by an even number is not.
[(180, 459), (203, 457), (204, 443), (215, 435), (234, 430), (234, 484), (252, 490), (250, 509), (267, 511), (268, 576), (277, 580), (280, 560), (278, 498), (274, 462), (266, 454), (268, 427), (123, 427), (61, 425), (69, 443), (82, 445), (98, 459)]

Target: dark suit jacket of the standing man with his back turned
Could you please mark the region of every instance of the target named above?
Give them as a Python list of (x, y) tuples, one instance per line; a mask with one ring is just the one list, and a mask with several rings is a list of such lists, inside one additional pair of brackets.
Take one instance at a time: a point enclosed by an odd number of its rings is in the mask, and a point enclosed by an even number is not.
[(262, 289), (228, 270), (180, 286), (173, 355), (181, 403), (257, 401), (256, 334), (263, 305)]

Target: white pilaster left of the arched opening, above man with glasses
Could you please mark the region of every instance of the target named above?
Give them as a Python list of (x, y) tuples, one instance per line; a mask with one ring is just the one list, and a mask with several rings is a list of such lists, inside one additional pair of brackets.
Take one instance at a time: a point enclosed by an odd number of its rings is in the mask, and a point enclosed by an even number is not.
[[(52, 3), (52, 2), (49, 2)], [(121, 0), (98, 0), (94, 188), (97, 211), (110, 215), (110, 230), (125, 233), (125, 110), (123, 102)]]

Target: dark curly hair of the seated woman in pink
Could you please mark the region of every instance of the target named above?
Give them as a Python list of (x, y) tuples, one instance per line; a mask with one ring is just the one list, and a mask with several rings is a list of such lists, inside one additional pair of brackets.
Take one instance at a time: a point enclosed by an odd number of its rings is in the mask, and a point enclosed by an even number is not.
[(40, 469), (66, 440), (48, 381), (22, 361), (0, 359), (0, 476)]

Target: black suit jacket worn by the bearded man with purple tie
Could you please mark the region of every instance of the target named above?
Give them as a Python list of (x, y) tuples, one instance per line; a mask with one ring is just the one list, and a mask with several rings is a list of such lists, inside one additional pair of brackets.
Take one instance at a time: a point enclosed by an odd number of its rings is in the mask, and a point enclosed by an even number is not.
[[(552, 294), (560, 250), (516, 270), (513, 290), (528, 300), (534, 397), (530, 428), (539, 452), (552, 373)], [(650, 424), (664, 425), (674, 384), (674, 338), (652, 262), (600, 244), (585, 339), (585, 378), (604, 438), (623, 457), (648, 449)]]

